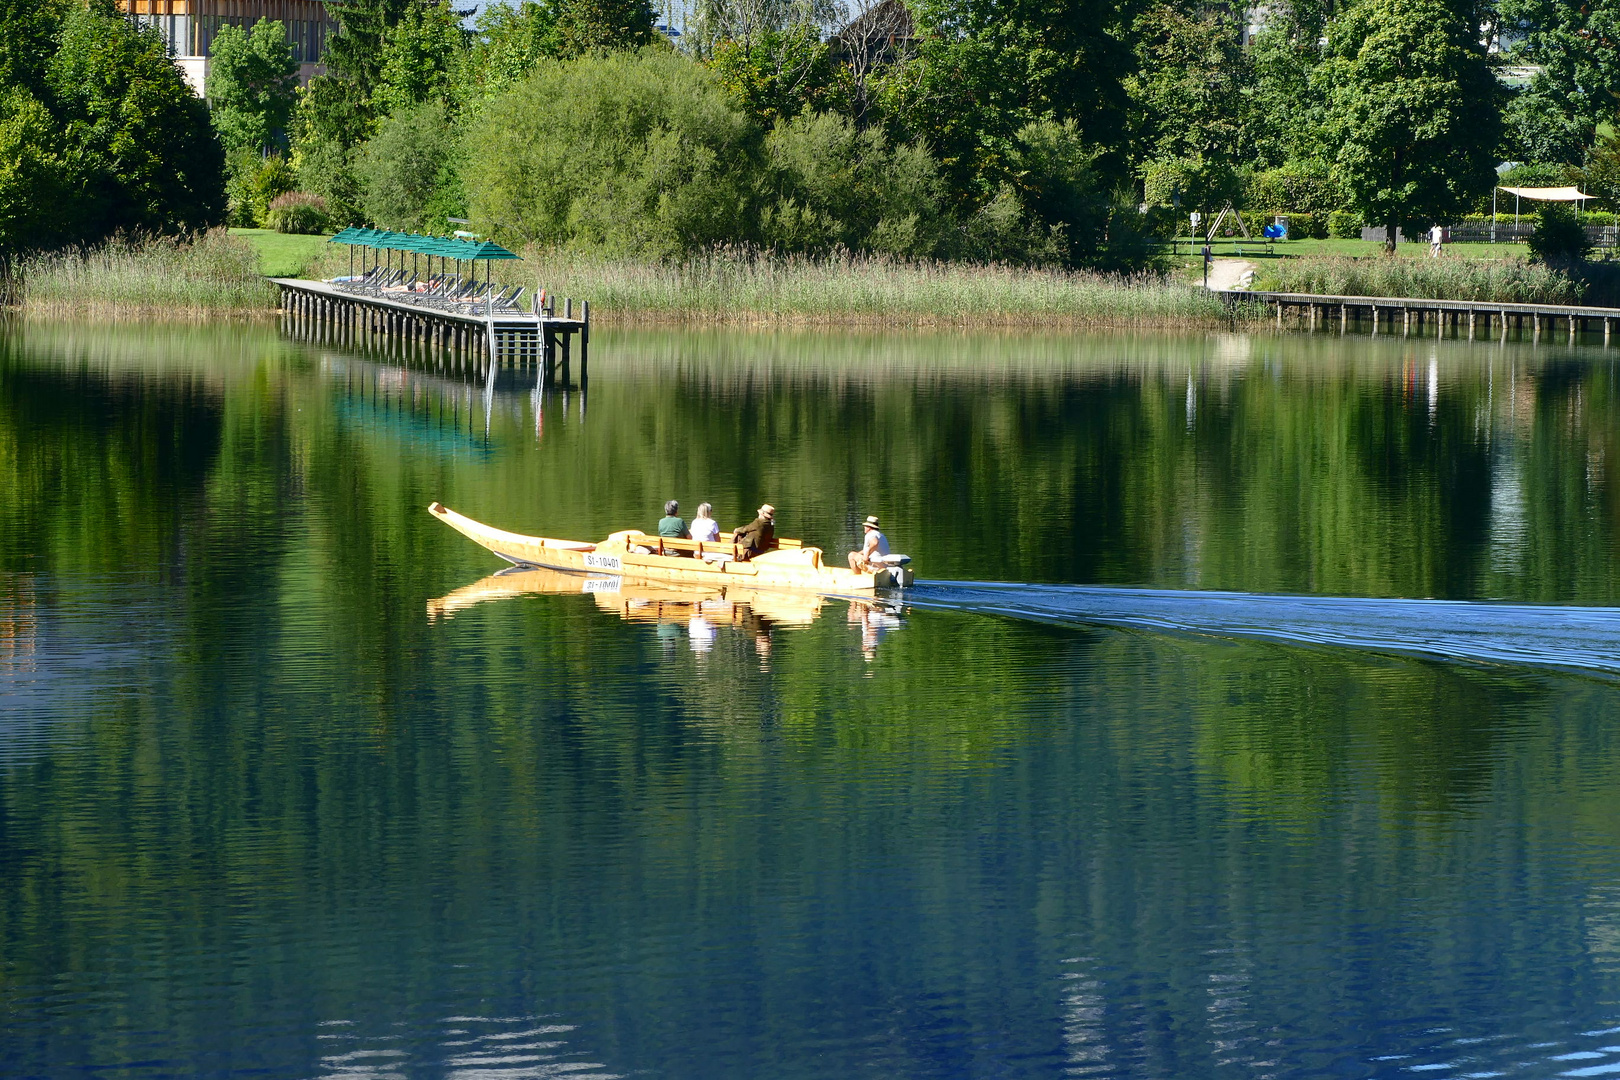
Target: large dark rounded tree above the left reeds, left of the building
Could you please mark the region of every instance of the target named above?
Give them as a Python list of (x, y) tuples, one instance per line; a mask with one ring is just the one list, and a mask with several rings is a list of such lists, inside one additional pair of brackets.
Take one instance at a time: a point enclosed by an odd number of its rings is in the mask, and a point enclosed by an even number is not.
[(75, 10), (47, 79), (91, 199), (76, 232), (222, 220), (224, 149), (156, 29), (133, 26), (105, 0)]

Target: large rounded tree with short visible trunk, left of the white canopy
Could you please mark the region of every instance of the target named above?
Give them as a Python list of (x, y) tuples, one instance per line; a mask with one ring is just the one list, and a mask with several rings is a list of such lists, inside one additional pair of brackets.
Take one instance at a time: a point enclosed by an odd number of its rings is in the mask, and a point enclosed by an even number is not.
[(1495, 183), (1500, 84), (1439, 0), (1359, 0), (1332, 28), (1335, 172), (1369, 222), (1461, 214)]

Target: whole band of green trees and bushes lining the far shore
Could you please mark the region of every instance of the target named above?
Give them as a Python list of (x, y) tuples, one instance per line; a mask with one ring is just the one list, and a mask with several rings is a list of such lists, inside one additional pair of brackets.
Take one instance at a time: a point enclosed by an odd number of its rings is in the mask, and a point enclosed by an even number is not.
[[(0, 6), (0, 227), (49, 244), (217, 220), (220, 157), (188, 141), (211, 142), (156, 36), (63, 3)], [(677, 44), (646, 0), (496, 3), (471, 28), (447, 0), (332, 13), (296, 94), (279, 23), (215, 40), (233, 223), (298, 191), (337, 225), (470, 217), (616, 254), (1142, 269), (1228, 202), (1294, 235), (1455, 222), (1505, 157), (1620, 198), (1620, 62), (1584, 47), (1604, 3), (1294, 0), (1251, 36), (1192, 0), (708, 0)], [(1508, 23), (1500, 58), (1541, 66), (1516, 91), (1481, 45)], [(68, 227), (36, 189), (100, 210)]]

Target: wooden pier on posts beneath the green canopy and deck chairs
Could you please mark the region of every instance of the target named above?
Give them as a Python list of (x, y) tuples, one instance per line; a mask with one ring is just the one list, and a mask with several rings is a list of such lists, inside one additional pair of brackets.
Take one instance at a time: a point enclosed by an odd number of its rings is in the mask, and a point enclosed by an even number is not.
[(352, 291), (330, 282), (292, 277), (271, 280), (280, 288), (284, 316), (305, 324), (308, 330), (321, 332), (321, 337), (347, 343), (368, 338), (382, 345), (399, 343), (473, 371), (492, 369), (502, 363), (533, 363), (546, 372), (561, 366), (564, 382), (569, 381), (570, 345), (578, 337), (580, 379), (586, 377), (591, 342), (588, 303), (582, 303), (575, 314), (573, 301), (567, 300), (561, 316), (554, 303), (541, 311), (489, 311), (488, 304), (457, 304), (447, 309)]

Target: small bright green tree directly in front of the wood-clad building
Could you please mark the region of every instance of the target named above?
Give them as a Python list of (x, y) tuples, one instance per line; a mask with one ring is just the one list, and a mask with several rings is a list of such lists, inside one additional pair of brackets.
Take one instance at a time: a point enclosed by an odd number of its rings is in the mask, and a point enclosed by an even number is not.
[(207, 102), (225, 151), (269, 152), (287, 139), (298, 100), (298, 62), (287, 28), (259, 19), (251, 31), (219, 28), (209, 52)]

